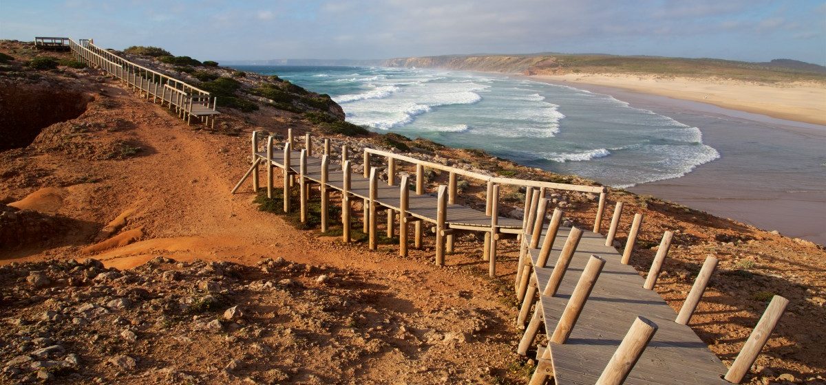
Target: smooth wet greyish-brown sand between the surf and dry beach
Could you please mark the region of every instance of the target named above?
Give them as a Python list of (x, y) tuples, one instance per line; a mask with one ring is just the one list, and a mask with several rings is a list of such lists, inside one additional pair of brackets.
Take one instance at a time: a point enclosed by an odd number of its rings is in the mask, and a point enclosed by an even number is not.
[(582, 83), (533, 80), (614, 96), (698, 127), (720, 158), (686, 176), (628, 190), (826, 244), (826, 126)]

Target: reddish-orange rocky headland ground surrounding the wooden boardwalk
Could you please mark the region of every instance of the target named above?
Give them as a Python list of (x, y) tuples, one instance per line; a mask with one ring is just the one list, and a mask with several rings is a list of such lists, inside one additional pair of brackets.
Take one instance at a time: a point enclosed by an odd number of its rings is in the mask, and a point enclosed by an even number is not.
[[(4, 111), (24, 96), (69, 91), (77, 97), (64, 101), (84, 101), (66, 107), (74, 117), (44, 121), (31, 143), (0, 152), (3, 382), (525, 383), (532, 363), (514, 354), (512, 240), (501, 242), (500, 277), (487, 279), (474, 235), (436, 268), (430, 237), (407, 258), (393, 244), (367, 251), (340, 242), (335, 228), (299, 229), (260, 211), (249, 185), (229, 192), (249, 167), (252, 130), (281, 142), (287, 128), (316, 134), (316, 148), (322, 134), (332, 138), (334, 156), (347, 144), (355, 164), (369, 145), (501, 176), (593, 182), (425, 140), (330, 135), (330, 124), (268, 101), (254, 112), (221, 110), (216, 131), (187, 126), (94, 69), (28, 68), (41, 53), (21, 43), (2, 42), (0, 52), (15, 58), (0, 64)], [(240, 82), (254, 89), (250, 79)], [(430, 189), (447, 181), (426, 177)], [(482, 206), (484, 186), (459, 185), (460, 201)], [(519, 218), (524, 191), (501, 196), (501, 214)], [(569, 223), (590, 228), (596, 196), (551, 198)], [(626, 209), (615, 246), (631, 214), (645, 215), (632, 257), (641, 274), (662, 232), (676, 233), (657, 286), (673, 308), (705, 256), (719, 258), (691, 326), (724, 362), (780, 294), (790, 306), (747, 382), (823, 382), (822, 246), (624, 190), (610, 191), (606, 216), (617, 201)], [(230, 308), (243, 317), (225, 318)]]

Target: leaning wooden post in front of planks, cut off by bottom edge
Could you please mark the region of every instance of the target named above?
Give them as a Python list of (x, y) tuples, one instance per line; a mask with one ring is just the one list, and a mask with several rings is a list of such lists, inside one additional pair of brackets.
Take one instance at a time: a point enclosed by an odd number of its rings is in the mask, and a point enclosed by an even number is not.
[(637, 317), (622, 342), (619, 343), (614, 355), (611, 356), (605, 369), (602, 370), (600, 378), (596, 380), (596, 385), (621, 385), (625, 378), (634, 369), (637, 360), (643, 351), (648, 347), (654, 333), (657, 331), (657, 324), (650, 320)]

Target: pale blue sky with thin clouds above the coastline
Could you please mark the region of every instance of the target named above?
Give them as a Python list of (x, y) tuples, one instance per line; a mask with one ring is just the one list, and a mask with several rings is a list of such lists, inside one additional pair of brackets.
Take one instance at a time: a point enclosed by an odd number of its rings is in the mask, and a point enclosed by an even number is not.
[(826, 65), (826, 1), (0, 0), (0, 39), (36, 35), (218, 61), (553, 51)]

